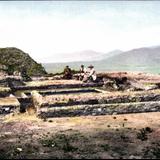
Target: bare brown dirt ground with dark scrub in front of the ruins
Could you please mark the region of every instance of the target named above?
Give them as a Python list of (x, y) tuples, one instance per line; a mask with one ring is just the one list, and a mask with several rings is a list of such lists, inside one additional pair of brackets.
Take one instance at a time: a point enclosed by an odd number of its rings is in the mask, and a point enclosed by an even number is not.
[(1, 117), (0, 159), (160, 158), (160, 113)]

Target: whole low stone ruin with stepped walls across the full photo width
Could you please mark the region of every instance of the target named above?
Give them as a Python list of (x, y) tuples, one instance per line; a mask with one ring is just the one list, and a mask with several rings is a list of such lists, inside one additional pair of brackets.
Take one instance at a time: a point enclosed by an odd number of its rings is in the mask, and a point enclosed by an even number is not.
[(97, 83), (5, 77), (0, 80), (0, 114), (32, 110), (42, 118), (160, 111), (160, 76), (147, 77), (102, 74)]

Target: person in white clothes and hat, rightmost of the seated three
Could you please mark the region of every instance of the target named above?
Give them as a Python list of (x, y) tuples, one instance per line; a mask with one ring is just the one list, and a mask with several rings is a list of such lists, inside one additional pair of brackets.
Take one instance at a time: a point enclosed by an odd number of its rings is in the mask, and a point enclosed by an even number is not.
[(84, 77), (83, 82), (87, 82), (87, 81), (95, 82), (96, 79), (97, 79), (97, 75), (96, 75), (94, 66), (92, 65), (88, 66), (87, 75)]

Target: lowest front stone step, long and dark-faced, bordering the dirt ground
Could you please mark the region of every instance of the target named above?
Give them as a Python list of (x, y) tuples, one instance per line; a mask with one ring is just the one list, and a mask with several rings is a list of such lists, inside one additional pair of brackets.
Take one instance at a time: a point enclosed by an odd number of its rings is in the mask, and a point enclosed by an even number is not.
[(116, 115), (128, 113), (159, 112), (160, 101), (119, 103), (119, 104), (95, 104), (75, 105), (64, 107), (41, 108), (40, 117), (73, 117), (73, 116), (97, 116)]

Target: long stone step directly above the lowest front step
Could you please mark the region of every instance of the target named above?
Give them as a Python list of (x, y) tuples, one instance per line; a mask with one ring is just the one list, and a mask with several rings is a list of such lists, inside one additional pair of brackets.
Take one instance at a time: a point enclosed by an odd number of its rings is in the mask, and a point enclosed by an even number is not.
[(42, 106), (58, 107), (83, 104), (112, 104), (112, 103), (131, 103), (160, 101), (160, 90), (156, 91), (139, 91), (135, 93), (116, 92), (115, 94), (106, 93), (83, 93), (83, 94), (64, 94), (49, 95), (43, 97)]

